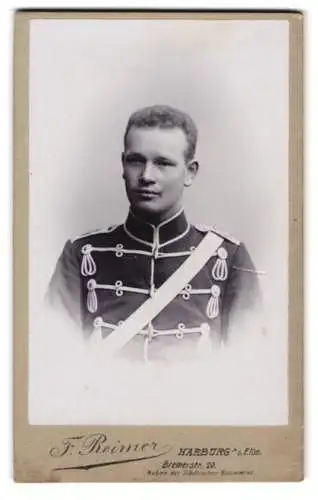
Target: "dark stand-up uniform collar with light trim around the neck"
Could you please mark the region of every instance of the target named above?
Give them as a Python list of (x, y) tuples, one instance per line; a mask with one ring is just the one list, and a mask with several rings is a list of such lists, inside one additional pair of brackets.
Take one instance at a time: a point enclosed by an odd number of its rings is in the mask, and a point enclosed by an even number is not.
[(148, 246), (157, 244), (158, 247), (161, 247), (185, 236), (190, 229), (190, 225), (183, 208), (157, 226), (146, 222), (130, 210), (124, 229), (129, 236), (141, 243)]

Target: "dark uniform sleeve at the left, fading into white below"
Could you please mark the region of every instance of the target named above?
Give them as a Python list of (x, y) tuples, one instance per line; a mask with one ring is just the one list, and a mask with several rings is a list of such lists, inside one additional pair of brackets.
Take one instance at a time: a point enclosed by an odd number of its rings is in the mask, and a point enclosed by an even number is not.
[(80, 259), (77, 249), (70, 240), (66, 242), (57, 261), (49, 283), (46, 300), (50, 307), (64, 314), (66, 313), (80, 326)]

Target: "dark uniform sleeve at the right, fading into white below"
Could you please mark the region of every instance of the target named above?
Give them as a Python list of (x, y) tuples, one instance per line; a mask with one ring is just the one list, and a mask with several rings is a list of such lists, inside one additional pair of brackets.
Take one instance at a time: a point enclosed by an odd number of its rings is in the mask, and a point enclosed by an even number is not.
[(225, 337), (265, 332), (260, 278), (241, 243), (234, 254), (224, 294), (222, 332)]

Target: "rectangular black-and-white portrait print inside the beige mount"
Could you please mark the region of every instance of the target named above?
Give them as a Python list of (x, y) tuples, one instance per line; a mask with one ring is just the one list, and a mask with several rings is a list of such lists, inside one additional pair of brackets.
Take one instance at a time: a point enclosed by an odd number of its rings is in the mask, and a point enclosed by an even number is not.
[(288, 23), (37, 20), (29, 72), (30, 422), (284, 424)]

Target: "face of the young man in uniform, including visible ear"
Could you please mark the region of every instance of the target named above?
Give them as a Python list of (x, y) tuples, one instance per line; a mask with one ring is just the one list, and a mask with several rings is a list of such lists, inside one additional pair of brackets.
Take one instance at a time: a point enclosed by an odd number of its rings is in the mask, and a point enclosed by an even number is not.
[(128, 133), (122, 155), (126, 192), (133, 209), (164, 220), (182, 207), (185, 186), (198, 169), (187, 162), (187, 139), (181, 128), (137, 128)]

